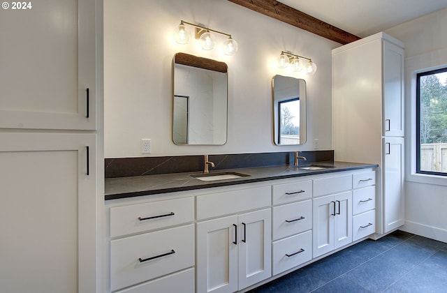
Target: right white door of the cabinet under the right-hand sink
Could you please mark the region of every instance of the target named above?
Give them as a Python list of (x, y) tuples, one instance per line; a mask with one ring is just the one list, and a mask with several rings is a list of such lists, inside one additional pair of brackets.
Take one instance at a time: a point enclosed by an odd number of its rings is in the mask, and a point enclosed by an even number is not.
[(334, 249), (352, 242), (352, 191), (334, 195)]

